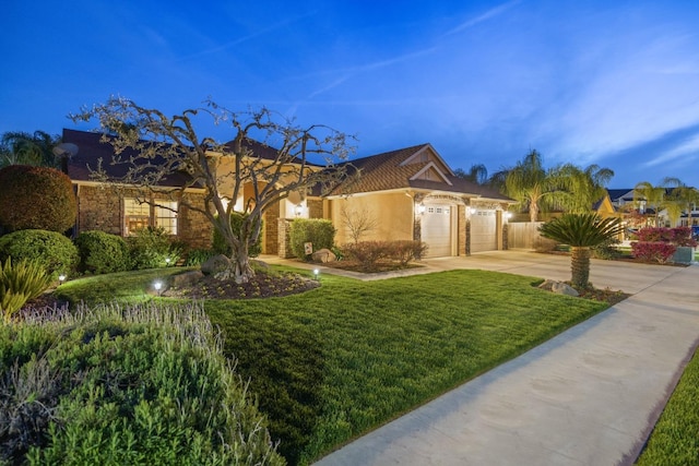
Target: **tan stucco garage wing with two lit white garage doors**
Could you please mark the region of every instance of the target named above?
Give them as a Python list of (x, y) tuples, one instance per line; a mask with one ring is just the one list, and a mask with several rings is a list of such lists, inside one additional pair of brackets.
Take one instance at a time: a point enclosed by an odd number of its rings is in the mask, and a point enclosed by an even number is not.
[(379, 220), (363, 239), (420, 240), (428, 256), (507, 249), (507, 210), (513, 201), (454, 176), (430, 144), (347, 165), (359, 176), (324, 196), (339, 243), (351, 241), (347, 213), (359, 213)]

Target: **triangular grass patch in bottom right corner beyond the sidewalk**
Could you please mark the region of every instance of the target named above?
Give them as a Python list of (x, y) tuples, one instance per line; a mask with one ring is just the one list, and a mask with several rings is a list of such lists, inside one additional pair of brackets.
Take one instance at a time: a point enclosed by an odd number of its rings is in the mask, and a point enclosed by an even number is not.
[(671, 396), (637, 464), (699, 464), (699, 354), (695, 354)]

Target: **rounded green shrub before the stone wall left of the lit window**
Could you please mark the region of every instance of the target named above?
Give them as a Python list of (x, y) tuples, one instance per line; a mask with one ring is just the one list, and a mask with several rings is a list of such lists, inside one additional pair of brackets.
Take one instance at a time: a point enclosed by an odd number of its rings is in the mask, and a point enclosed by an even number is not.
[(123, 238), (104, 231), (83, 231), (75, 238), (80, 272), (108, 274), (129, 270), (129, 248)]

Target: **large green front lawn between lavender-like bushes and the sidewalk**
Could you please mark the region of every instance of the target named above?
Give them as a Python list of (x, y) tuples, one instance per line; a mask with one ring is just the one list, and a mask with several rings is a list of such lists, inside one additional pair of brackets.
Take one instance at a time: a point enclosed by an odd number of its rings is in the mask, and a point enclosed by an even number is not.
[[(60, 292), (129, 298), (118, 286), (126, 278), (94, 277)], [(142, 296), (143, 285), (129, 280)], [(484, 271), (378, 282), (325, 275), (321, 288), (303, 295), (210, 300), (205, 309), (225, 335), (225, 353), (250, 378), (281, 453), (307, 464), (606, 307), (552, 295), (536, 282)]]

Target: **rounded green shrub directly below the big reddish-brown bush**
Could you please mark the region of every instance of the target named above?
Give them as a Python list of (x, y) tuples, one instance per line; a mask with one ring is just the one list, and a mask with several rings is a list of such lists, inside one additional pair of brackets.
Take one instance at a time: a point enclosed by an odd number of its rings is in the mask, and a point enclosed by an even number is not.
[(35, 261), (56, 279), (71, 275), (80, 261), (78, 248), (56, 231), (21, 230), (0, 237), (0, 261)]

